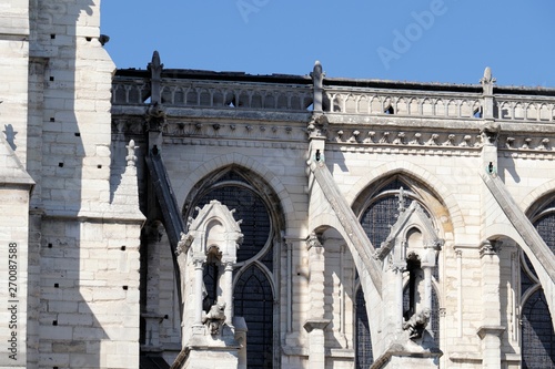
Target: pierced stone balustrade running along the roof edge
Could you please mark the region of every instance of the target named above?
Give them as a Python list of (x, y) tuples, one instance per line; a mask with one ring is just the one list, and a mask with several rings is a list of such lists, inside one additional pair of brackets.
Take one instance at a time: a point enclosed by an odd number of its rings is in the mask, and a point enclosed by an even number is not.
[[(426, 86), (427, 90), (430, 86)], [(162, 79), (164, 106), (249, 109), (306, 112), (313, 103), (313, 86), (304, 83)], [(114, 105), (150, 103), (148, 78), (115, 76)], [(503, 121), (552, 123), (555, 98), (527, 94), (494, 95), (494, 115)], [(412, 91), (373, 88), (325, 86), (323, 111), (334, 114), (423, 116), (436, 119), (481, 119), (483, 94), (456, 91)]]

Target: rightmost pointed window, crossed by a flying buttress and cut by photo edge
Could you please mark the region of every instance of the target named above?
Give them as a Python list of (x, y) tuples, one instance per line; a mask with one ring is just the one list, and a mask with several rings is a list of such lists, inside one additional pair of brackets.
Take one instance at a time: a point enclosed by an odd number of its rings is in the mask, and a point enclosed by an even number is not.
[[(541, 201), (531, 219), (555, 253), (555, 201)], [(544, 290), (528, 257), (521, 252), (522, 368), (555, 368), (555, 331)]]

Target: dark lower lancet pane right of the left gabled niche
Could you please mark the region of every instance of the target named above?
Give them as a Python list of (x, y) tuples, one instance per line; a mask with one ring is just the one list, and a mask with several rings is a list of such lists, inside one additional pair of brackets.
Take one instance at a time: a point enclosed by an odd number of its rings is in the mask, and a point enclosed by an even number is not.
[(273, 297), (266, 275), (250, 266), (235, 284), (234, 309), (245, 319), (249, 369), (273, 368)]

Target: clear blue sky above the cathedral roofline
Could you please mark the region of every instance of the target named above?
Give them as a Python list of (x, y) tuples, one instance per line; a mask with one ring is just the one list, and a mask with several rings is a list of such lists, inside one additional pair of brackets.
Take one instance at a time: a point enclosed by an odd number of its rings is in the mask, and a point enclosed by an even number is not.
[(118, 68), (555, 88), (554, 0), (102, 0)]

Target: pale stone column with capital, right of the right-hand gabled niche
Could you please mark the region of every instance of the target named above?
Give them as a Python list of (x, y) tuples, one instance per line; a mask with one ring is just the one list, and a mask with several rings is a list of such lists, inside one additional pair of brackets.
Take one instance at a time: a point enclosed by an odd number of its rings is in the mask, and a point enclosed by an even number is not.
[(501, 326), (500, 301), (500, 244), (485, 240), (480, 249), (482, 265), (482, 326), (477, 335), (482, 339), (482, 368), (501, 368), (501, 336), (505, 327)]

